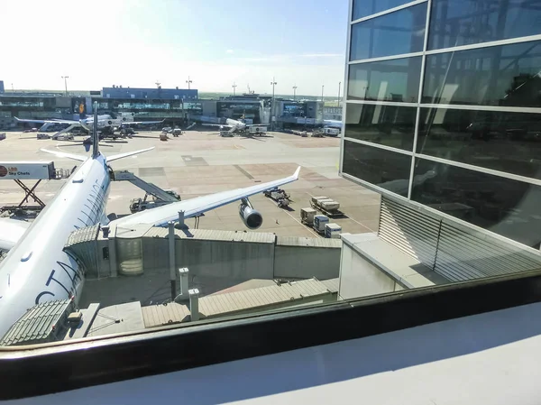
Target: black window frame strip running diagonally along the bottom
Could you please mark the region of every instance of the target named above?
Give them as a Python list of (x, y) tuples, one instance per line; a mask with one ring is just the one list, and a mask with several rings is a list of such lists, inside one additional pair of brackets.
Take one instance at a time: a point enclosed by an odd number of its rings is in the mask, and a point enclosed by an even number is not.
[(74, 343), (2, 348), (0, 400), (172, 373), (518, 307), (541, 301), (539, 285), (540, 272), (524, 272), (280, 314)]

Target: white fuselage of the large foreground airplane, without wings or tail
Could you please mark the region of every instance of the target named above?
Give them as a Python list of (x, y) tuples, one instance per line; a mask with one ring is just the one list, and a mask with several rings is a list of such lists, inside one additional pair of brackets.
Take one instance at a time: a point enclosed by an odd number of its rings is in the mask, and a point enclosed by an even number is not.
[(84, 161), (0, 263), (0, 337), (36, 304), (78, 301), (85, 270), (63, 248), (71, 232), (106, 221), (109, 185), (102, 154)]

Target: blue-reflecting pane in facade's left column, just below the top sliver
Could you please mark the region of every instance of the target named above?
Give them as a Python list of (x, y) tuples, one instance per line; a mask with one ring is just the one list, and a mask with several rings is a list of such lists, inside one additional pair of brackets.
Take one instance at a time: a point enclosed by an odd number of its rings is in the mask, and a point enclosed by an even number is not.
[(423, 51), (426, 3), (356, 23), (350, 60)]

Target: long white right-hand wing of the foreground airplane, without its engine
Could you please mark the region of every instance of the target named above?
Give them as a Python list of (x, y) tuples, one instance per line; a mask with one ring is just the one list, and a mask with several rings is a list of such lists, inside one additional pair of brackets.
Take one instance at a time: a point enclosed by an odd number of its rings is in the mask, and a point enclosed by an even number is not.
[(111, 221), (110, 225), (127, 226), (133, 224), (149, 224), (152, 226), (167, 226), (169, 221), (179, 220), (179, 211), (184, 211), (185, 218), (198, 216), (199, 214), (203, 214), (211, 209), (222, 207), (242, 198), (247, 198), (268, 189), (274, 189), (284, 184), (293, 182), (298, 179), (299, 171), (300, 166), (293, 175), (284, 179), (269, 181), (256, 186), (246, 187), (244, 189), (233, 189), (210, 194), (208, 196), (190, 198), (184, 201), (179, 201), (166, 206), (149, 209), (130, 216), (115, 219), (114, 221)]

